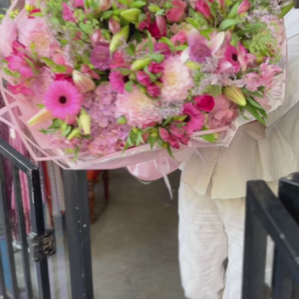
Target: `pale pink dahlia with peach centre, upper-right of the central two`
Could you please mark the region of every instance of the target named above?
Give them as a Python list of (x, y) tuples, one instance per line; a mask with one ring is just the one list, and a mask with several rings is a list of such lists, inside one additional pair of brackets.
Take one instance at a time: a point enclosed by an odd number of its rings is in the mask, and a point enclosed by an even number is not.
[(179, 102), (186, 99), (193, 87), (190, 69), (181, 62), (180, 57), (168, 57), (164, 60), (161, 97), (165, 102)]

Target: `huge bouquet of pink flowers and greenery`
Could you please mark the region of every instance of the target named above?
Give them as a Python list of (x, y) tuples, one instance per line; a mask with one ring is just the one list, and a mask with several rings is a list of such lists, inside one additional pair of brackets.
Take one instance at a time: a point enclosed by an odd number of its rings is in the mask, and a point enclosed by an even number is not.
[(228, 144), (240, 124), (266, 124), (283, 99), (280, 19), (290, 8), (283, 5), (28, 0), (12, 7), (0, 51), (4, 100), (21, 111), (18, 120), (10, 114), (14, 126), (44, 155), (72, 157), (64, 162), (73, 167), (76, 159), (95, 167), (103, 156), (135, 155), (144, 144), (170, 154), (192, 138)]

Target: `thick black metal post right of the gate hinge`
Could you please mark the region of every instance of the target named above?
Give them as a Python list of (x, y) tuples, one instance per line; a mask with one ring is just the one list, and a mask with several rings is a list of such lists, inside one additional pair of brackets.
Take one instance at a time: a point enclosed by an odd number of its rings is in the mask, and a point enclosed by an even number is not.
[(93, 299), (87, 175), (62, 170), (72, 299)]

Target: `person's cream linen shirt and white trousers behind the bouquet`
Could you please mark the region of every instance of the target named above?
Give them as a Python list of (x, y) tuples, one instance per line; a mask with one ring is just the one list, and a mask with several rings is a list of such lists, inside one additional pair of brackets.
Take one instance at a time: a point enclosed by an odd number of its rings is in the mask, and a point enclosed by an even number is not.
[(205, 162), (193, 154), (181, 167), (179, 261), (189, 299), (241, 299), (246, 181), (263, 179), (275, 189), (280, 177), (299, 170), (298, 19), (299, 9), (285, 17), (286, 94), (269, 114), (267, 127), (257, 122), (241, 126), (229, 148), (199, 148)]

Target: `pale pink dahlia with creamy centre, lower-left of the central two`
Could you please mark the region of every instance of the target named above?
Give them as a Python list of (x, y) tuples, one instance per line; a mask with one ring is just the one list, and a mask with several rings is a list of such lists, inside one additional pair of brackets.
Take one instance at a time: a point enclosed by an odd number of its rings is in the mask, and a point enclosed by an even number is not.
[(115, 109), (116, 117), (125, 116), (130, 126), (138, 128), (142, 128), (144, 123), (158, 123), (162, 120), (155, 102), (137, 87), (132, 92), (118, 94)]

